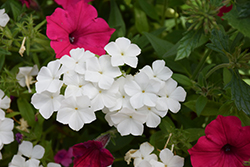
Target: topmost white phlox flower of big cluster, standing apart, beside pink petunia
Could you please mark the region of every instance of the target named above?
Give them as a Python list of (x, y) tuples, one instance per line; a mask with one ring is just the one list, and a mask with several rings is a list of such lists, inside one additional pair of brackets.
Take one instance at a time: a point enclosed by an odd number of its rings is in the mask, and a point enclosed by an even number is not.
[(127, 64), (136, 68), (138, 63), (138, 56), (141, 49), (131, 44), (130, 40), (124, 37), (117, 38), (115, 42), (108, 43), (104, 49), (111, 55), (111, 64), (114, 67)]

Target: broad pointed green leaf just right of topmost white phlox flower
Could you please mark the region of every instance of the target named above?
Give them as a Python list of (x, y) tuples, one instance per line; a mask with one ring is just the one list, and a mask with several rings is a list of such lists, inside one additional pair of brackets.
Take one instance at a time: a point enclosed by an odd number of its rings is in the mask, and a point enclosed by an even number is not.
[(173, 47), (173, 44), (160, 39), (150, 33), (144, 32), (144, 35), (148, 38), (149, 42), (153, 46), (154, 50), (156, 51), (157, 55), (162, 57), (164, 53), (166, 53), (169, 49)]

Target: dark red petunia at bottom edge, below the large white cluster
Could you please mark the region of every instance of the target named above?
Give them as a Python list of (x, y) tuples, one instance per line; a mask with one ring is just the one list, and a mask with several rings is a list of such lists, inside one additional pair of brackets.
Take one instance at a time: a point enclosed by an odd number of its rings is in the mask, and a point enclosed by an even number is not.
[(101, 141), (89, 140), (73, 146), (74, 167), (107, 167), (114, 157)]

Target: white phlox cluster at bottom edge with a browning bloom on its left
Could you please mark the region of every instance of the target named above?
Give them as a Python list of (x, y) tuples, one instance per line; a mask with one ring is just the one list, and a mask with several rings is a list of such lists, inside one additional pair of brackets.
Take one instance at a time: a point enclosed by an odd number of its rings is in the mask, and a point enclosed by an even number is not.
[(134, 159), (135, 167), (183, 167), (184, 158), (174, 155), (171, 150), (164, 148), (158, 157), (152, 153), (154, 147), (148, 142), (142, 143), (139, 150), (131, 149), (125, 155), (125, 161), (129, 164)]

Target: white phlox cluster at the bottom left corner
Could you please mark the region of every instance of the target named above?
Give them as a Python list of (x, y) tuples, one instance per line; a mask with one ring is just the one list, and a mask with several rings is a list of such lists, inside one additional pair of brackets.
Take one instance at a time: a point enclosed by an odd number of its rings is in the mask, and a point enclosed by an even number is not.
[[(18, 153), (13, 156), (9, 167), (43, 167), (40, 159), (43, 157), (45, 149), (41, 145), (35, 145), (30, 141), (23, 141), (18, 148)], [(47, 167), (61, 167), (60, 164), (50, 162)]]

